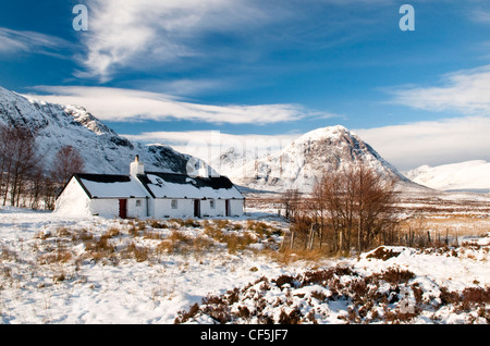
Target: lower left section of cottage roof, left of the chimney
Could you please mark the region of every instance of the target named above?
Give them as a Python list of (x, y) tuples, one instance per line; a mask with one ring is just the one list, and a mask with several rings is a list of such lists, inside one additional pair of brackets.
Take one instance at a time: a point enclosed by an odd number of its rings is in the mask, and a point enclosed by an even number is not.
[(75, 174), (90, 198), (146, 198), (148, 191), (130, 175)]

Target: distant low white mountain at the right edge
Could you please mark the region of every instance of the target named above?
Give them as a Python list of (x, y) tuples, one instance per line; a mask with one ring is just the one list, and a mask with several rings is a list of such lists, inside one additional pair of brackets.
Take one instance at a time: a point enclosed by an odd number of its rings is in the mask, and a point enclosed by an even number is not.
[(490, 193), (490, 162), (473, 160), (405, 172), (412, 181), (441, 190)]

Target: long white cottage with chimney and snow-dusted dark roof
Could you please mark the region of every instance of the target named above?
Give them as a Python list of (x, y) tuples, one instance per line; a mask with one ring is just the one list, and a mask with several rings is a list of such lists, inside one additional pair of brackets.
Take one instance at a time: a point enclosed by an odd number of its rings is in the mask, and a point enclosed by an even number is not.
[(130, 175), (74, 174), (56, 211), (122, 219), (240, 217), (244, 201), (225, 176), (145, 172), (136, 157)]

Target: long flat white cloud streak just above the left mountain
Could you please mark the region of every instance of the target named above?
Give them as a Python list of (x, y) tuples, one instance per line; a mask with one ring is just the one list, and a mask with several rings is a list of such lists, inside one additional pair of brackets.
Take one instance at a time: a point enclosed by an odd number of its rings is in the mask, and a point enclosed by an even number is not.
[(78, 104), (100, 120), (186, 120), (206, 123), (269, 124), (297, 121), (307, 116), (336, 116), (315, 112), (299, 104), (212, 106), (185, 102), (176, 97), (133, 89), (108, 87), (38, 86), (50, 95), (27, 97), (61, 104)]

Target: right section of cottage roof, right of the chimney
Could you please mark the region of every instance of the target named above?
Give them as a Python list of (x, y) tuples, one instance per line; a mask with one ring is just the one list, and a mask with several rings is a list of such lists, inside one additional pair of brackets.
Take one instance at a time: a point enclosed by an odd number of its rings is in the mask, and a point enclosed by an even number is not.
[(137, 177), (154, 198), (244, 198), (226, 176), (191, 177), (185, 174), (147, 172)]

